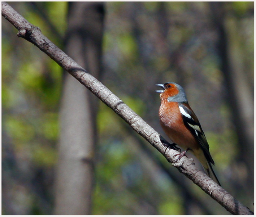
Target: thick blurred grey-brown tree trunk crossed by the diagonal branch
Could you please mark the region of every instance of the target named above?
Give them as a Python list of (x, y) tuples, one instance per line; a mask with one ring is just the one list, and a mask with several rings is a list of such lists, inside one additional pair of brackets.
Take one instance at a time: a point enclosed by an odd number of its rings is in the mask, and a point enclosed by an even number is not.
[[(96, 78), (101, 71), (103, 18), (103, 3), (69, 3), (66, 53)], [(64, 73), (54, 214), (91, 213), (96, 102), (90, 91)]]

